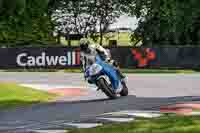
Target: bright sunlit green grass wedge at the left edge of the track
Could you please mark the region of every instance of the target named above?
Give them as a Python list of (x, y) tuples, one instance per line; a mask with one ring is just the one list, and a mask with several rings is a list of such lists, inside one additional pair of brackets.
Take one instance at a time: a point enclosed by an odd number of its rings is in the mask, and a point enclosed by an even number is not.
[(56, 96), (17, 84), (0, 83), (0, 109), (47, 102)]

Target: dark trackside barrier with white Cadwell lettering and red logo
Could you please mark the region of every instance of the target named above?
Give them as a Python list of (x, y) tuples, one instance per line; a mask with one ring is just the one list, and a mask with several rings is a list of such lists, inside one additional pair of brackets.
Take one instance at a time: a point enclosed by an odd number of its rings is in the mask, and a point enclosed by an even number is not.
[[(200, 47), (110, 48), (122, 68), (200, 68)], [(78, 68), (78, 48), (1, 48), (0, 69)]]

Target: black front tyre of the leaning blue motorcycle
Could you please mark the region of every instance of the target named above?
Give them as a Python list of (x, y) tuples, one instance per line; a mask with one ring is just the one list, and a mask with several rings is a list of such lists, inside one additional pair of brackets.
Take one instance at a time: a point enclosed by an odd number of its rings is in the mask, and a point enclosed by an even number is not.
[(107, 83), (107, 81), (104, 78), (100, 78), (97, 81), (97, 86), (108, 96), (110, 99), (116, 99), (117, 95), (113, 91), (113, 89), (110, 87), (110, 85)]

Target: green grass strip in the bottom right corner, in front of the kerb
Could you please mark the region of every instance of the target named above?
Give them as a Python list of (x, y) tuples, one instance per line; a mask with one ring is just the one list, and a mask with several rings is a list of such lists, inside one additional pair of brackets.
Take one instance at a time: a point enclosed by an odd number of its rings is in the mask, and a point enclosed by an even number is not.
[(165, 116), (110, 124), (91, 129), (72, 129), (68, 133), (199, 133), (200, 117)]

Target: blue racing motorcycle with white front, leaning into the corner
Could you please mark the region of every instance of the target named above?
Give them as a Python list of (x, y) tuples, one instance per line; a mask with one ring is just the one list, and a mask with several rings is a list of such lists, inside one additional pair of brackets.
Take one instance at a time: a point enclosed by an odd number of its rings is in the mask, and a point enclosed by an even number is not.
[[(105, 93), (110, 99), (116, 99), (117, 95), (128, 95), (126, 82), (120, 79), (117, 70), (110, 64), (105, 63), (100, 56), (95, 57), (95, 62), (91, 63), (85, 70), (85, 78), (89, 84), (95, 84), (98, 89)], [(119, 92), (117, 89), (121, 86)]]

